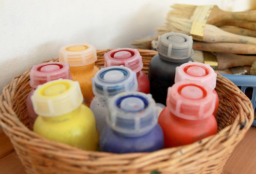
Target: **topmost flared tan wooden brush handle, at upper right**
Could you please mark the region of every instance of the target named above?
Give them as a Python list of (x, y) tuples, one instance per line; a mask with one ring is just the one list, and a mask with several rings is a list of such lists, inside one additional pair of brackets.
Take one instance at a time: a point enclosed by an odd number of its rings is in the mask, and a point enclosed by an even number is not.
[(256, 22), (256, 10), (245, 12), (227, 12), (221, 10), (217, 5), (214, 5), (207, 19), (208, 24), (215, 24), (220, 21), (241, 20)]

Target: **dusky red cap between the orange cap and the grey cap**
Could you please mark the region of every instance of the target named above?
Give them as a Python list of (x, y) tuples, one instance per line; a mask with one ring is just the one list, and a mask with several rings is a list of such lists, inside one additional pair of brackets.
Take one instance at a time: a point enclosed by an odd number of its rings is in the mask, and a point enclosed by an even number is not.
[(117, 48), (105, 53), (104, 59), (104, 67), (123, 65), (136, 73), (143, 68), (142, 57), (137, 49)]

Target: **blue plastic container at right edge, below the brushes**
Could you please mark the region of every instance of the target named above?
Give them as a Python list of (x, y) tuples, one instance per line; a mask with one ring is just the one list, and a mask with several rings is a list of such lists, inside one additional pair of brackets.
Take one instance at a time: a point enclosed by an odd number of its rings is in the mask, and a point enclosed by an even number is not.
[[(238, 86), (241, 91), (251, 99), (253, 108), (256, 108), (256, 76), (255, 75), (234, 75), (222, 73), (224, 77), (232, 81)], [(255, 118), (254, 118), (255, 119)], [(253, 126), (256, 126), (256, 119), (253, 122)]]

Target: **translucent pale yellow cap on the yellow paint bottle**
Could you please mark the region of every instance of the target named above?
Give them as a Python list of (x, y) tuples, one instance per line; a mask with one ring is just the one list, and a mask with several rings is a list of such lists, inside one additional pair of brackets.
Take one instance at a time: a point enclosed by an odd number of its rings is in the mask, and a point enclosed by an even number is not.
[(78, 108), (83, 95), (78, 82), (59, 79), (39, 85), (31, 100), (36, 114), (59, 116)]

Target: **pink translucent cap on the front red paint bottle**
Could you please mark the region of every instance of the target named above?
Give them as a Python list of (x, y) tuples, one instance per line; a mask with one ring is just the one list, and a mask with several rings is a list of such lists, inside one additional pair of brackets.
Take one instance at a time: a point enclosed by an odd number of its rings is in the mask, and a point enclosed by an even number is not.
[(216, 94), (199, 82), (181, 81), (168, 88), (166, 104), (175, 116), (184, 119), (203, 119), (212, 115)]

